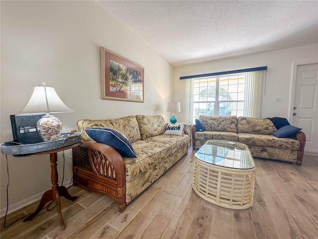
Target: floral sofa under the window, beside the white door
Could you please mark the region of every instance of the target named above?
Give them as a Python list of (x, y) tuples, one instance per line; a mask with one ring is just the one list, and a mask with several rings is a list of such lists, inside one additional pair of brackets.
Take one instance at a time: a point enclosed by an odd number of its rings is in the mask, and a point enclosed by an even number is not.
[(296, 139), (276, 137), (277, 130), (270, 119), (248, 117), (200, 116), (205, 130), (192, 125), (193, 149), (200, 148), (207, 140), (220, 139), (244, 143), (253, 157), (296, 162), (302, 165), (306, 135), (297, 132)]

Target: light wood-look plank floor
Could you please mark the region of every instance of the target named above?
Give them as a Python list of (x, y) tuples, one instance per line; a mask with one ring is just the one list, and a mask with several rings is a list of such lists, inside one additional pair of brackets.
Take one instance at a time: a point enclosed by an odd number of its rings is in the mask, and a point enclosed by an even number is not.
[[(1, 239), (317, 239), (318, 155), (305, 154), (303, 166), (255, 159), (254, 204), (230, 210), (201, 199), (192, 190), (189, 152), (152, 186), (118, 213), (113, 200), (79, 187), (79, 198), (62, 199), (66, 225), (56, 209), (42, 210), (33, 221), (3, 228)], [(32, 213), (34, 203), (8, 215), (6, 224)], [(52, 207), (51, 207), (52, 208)]]

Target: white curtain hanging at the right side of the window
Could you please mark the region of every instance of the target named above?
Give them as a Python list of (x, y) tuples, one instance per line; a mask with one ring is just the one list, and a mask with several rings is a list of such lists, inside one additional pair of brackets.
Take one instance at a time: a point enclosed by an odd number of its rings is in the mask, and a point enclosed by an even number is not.
[(246, 73), (244, 116), (261, 118), (266, 70)]

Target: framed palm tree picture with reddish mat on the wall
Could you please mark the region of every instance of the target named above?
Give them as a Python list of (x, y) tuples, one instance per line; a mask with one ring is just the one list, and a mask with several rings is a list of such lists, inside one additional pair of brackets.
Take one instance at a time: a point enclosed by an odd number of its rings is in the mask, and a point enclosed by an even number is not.
[(101, 99), (144, 102), (144, 67), (100, 47)]

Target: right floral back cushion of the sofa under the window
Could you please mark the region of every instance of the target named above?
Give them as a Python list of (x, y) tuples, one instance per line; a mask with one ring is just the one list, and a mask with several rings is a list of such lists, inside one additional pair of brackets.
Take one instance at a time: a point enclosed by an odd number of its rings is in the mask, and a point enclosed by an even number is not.
[(276, 127), (269, 119), (238, 117), (238, 133), (273, 134)]

